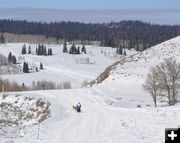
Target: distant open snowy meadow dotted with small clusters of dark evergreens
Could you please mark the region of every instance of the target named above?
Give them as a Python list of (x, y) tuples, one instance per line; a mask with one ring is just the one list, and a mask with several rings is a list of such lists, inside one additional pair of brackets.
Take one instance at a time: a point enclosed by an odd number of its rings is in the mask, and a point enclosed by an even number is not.
[[(115, 56), (115, 50), (110, 47), (86, 46), (87, 54), (69, 55), (63, 53), (62, 45), (46, 45), (47, 49), (52, 48), (53, 56), (34, 55), (37, 44), (31, 44), (33, 55), (21, 55), (23, 43), (1, 44), (0, 53), (8, 56), (9, 52), (17, 57), (18, 62), (26, 61), (30, 65), (39, 67), (43, 63), (45, 70), (29, 74), (4, 75), (5, 79), (15, 80), (22, 84), (23, 82), (31, 86), (33, 81), (47, 80), (60, 83), (71, 81), (73, 88), (81, 87), (84, 80), (91, 81), (118, 57)], [(28, 51), (29, 44), (26, 44)], [(68, 45), (68, 49), (71, 45)], [(77, 45), (78, 46), (78, 45)], [(82, 45), (80, 45), (82, 47)], [(103, 51), (103, 53), (101, 53)], [(89, 58), (89, 64), (81, 64), (81, 59)]]

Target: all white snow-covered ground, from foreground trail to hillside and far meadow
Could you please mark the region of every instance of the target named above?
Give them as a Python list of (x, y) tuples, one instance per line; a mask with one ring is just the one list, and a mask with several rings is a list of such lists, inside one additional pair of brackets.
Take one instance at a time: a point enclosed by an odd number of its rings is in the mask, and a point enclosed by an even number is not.
[[(8, 55), (12, 50), (18, 55), (21, 44), (14, 45), (3, 45), (0, 52)], [(80, 87), (83, 80), (95, 79), (106, 66), (117, 60), (113, 58), (115, 49), (111, 48), (103, 48), (107, 51), (106, 56), (101, 54), (101, 48), (91, 46), (88, 55), (72, 56), (61, 53), (59, 46), (54, 47), (54, 56), (25, 55), (29, 62), (39, 65), (42, 61), (44, 71), (3, 78), (19, 83), (44, 78), (55, 82), (68, 79), (73, 87)], [(78, 58), (86, 56), (95, 64), (77, 64)], [(23, 97), (48, 100), (51, 116), (40, 124), (39, 137), (38, 125), (33, 123), (17, 128), (1, 127), (0, 130), (6, 128), (7, 133), (0, 132), (0, 143), (164, 143), (165, 128), (180, 127), (180, 104), (166, 106), (162, 103), (154, 108), (142, 84), (149, 69), (167, 57), (180, 61), (180, 37), (127, 56), (123, 65), (118, 65), (107, 79), (91, 88), (20, 92)], [(81, 113), (72, 109), (78, 102), (82, 104)]]

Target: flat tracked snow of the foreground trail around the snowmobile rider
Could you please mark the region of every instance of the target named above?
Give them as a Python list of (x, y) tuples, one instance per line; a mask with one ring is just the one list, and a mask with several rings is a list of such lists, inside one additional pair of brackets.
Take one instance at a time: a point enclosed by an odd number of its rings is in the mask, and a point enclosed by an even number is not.
[[(116, 108), (87, 89), (38, 94), (58, 102), (55, 114), (60, 120), (43, 123), (40, 139), (25, 137), (17, 143), (163, 143), (165, 128), (180, 125), (179, 108)], [(82, 113), (72, 110), (79, 101)]]

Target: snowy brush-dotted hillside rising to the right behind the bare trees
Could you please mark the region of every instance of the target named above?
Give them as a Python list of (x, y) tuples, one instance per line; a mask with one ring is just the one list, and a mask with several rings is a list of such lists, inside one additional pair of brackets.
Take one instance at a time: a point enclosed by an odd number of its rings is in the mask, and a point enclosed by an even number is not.
[(105, 97), (116, 99), (114, 106), (136, 107), (152, 105), (152, 99), (142, 84), (150, 68), (165, 58), (180, 62), (180, 37), (176, 37), (144, 52), (127, 56), (110, 72), (108, 78), (93, 88)]

